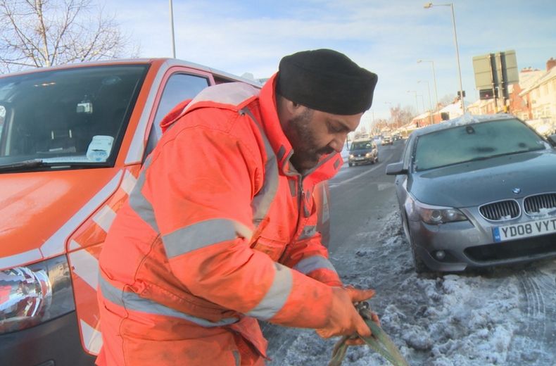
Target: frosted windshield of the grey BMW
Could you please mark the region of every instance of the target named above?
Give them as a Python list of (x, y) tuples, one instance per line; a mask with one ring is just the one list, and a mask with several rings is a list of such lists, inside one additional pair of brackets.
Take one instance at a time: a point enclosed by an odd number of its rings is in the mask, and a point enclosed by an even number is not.
[(465, 124), (419, 136), (416, 171), (547, 149), (548, 144), (517, 119)]

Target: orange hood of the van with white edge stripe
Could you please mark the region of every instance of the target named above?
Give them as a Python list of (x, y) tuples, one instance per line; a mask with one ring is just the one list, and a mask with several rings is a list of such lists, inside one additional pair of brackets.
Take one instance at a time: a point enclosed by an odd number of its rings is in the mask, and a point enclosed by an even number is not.
[(115, 191), (122, 171), (0, 174), (0, 269), (65, 252), (65, 241)]

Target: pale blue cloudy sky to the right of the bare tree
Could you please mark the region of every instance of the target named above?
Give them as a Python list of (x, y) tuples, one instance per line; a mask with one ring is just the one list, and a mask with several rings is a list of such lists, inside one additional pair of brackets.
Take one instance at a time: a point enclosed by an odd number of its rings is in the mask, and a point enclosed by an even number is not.
[[(364, 123), (400, 105), (434, 104), (459, 89), (450, 4), (417, 0), (173, 0), (177, 58), (257, 78), (277, 71), (282, 56), (329, 48), (379, 75)], [(518, 68), (545, 69), (556, 57), (556, 1), (453, 1), (466, 101), (479, 98), (473, 56), (515, 50)], [(438, 5), (438, 6), (437, 6)], [(140, 56), (172, 56), (168, 0), (106, 1)], [(417, 83), (417, 80), (423, 82)], [(429, 90), (427, 89), (427, 84)], [(417, 103), (415, 90), (419, 95)], [(422, 95), (422, 97), (420, 96)], [(417, 105), (416, 105), (417, 104)]]

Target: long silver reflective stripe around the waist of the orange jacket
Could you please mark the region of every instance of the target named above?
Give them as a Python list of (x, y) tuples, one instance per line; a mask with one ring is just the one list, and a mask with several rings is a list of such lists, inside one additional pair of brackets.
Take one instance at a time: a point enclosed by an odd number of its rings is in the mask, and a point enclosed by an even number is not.
[(210, 320), (206, 320), (201, 317), (194, 317), (193, 315), (188, 315), (186, 313), (182, 313), (181, 311), (168, 308), (168, 306), (156, 303), (148, 298), (142, 298), (134, 292), (122, 291), (106, 281), (106, 279), (102, 276), (99, 277), (99, 287), (103, 298), (111, 303), (114, 303), (115, 305), (120, 305), (127, 310), (135, 310), (140, 311), (141, 313), (162, 315), (165, 317), (178, 317), (179, 319), (201, 325), (201, 327), (222, 327), (224, 325), (233, 324), (239, 320), (236, 317), (228, 317), (220, 320), (219, 322), (211, 322)]

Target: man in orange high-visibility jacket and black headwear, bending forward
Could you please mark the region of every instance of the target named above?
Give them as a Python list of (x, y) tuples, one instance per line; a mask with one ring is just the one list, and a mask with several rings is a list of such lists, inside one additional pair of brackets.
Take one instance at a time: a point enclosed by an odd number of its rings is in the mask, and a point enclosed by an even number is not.
[(219, 84), (162, 122), (162, 139), (100, 256), (97, 365), (264, 365), (257, 320), (369, 336), (316, 230), (377, 75), (329, 49), (282, 58), (260, 91)]

